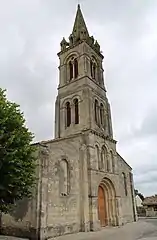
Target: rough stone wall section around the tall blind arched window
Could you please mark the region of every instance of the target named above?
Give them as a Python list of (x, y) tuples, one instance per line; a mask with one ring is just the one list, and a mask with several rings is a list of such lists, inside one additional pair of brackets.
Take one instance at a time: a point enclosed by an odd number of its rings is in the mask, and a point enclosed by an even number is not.
[[(46, 202), (45, 204), (43, 202), (45, 207), (42, 214), (45, 236), (54, 237), (78, 232), (80, 230), (80, 139), (79, 137), (64, 138), (47, 143), (47, 146), (49, 151), (47, 174), (43, 176), (43, 195)], [(69, 174), (68, 192), (65, 196), (60, 192), (62, 160), (67, 161)]]

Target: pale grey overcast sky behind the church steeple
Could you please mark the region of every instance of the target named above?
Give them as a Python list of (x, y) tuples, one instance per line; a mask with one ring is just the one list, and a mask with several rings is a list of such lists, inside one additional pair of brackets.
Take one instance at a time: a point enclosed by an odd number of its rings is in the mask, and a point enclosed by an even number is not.
[[(105, 84), (118, 151), (135, 187), (157, 193), (157, 1), (82, 0), (105, 56)], [(0, 86), (21, 105), (36, 140), (53, 136), (59, 43), (76, 0), (0, 0)]]

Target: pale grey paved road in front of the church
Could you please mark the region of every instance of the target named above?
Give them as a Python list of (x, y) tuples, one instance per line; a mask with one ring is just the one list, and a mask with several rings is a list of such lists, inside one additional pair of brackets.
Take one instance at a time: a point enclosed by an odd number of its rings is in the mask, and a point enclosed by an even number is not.
[[(139, 219), (123, 227), (104, 228), (98, 232), (77, 233), (53, 238), (54, 240), (157, 240), (157, 219)], [(51, 240), (53, 240), (51, 239)], [(0, 240), (20, 240), (0, 236)], [(21, 239), (24, 240), (24, 239)]]

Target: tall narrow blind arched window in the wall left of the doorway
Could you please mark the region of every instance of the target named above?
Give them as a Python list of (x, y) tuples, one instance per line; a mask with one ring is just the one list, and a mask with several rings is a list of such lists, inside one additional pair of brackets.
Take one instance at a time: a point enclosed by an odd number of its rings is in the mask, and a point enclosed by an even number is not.
[(69, 192), (69, 168), (66, 159), (61, 160), (59, 169), (59, 190), (61, 196), (67, 196)]

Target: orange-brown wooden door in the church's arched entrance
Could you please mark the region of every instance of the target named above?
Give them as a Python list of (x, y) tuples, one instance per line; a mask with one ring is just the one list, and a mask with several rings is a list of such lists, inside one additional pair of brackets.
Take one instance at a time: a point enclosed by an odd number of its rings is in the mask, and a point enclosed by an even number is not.
[(102, 227), (106, 226), (105, 195), (102, 187), (98, 189), (98, 217)]

